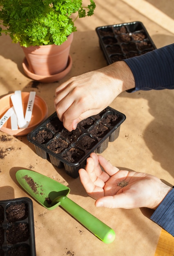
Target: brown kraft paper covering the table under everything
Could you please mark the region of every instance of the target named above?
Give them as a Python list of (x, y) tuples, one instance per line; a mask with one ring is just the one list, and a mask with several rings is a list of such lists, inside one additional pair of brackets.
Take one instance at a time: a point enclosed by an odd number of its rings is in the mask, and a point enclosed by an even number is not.
[[(173, 43), (172, 1), (160, 1), (161, 5), (157, 6), (156, 1), (140, 0), (138, 7), (136, 0), (95, 2), (95, 15), (76, 21), (78, 31), (74, 33), (70, 50), (73, 65), (61, 81), (39, 83), (25, 76), (22, 70), (24, 54), (20, 45), (11, 43), (9, 36), (2, 35), (0, 97), (15, 90), (35, 91), (46, 101), (51, 115), (55, 111), (55, 89), (63, 81), (107, 65), (95, 31), (98, 26), (141, 21), (157, 48)], [(153, 17), (149, 10), (155, 10)], [(120, 126), (118, 138), (109, 142), (101, 155), (114, 166), (150, 173), (174, 185), (173, 102), (172, 90), (120, 94), (110, 106), (124, 113), (126, 120)], [(5, 134), (0, 132), (0, 137), (2, 135)], [(36, 155), (26, 136), (6, 136), (8, 141), (0, 141), (0, 150), (5, 152), (0, 159), (0, 200), (30, 197), (19, 186), (15, 173), (19, 169), (31, 169), (69, 186), (69, 198), (116, 233), (114, 242), (105, 244), (62, 208), (49, 211), (32, 199), (37, 256), (154, 256), (161, 227), (149, 219), (153, 210), (96, 208), (95, 200), (87, 195), (79, 178), (73, 179), (64, 168), (59, 169)]]

